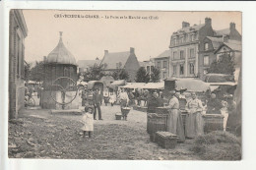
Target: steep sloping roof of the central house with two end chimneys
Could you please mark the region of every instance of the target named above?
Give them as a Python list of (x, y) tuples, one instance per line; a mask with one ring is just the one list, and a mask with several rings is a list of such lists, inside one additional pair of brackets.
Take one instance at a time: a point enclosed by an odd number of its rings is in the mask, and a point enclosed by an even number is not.
[(116, 63), (120, 63), (119, 69), (123, 68), (130, 56), (130, 51), (106, 53), (101, 64), (106, 65), (105, 69), (116, 69)]

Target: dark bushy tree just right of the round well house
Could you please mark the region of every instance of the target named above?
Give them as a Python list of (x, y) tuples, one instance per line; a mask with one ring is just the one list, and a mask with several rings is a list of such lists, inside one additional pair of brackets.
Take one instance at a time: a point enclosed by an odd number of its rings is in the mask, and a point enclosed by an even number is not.
[(85, 77), (85, 81), (99, 81), (103, 76), (105, 76), (103, 65), (91, 66), (89, 71), (83, 74)]

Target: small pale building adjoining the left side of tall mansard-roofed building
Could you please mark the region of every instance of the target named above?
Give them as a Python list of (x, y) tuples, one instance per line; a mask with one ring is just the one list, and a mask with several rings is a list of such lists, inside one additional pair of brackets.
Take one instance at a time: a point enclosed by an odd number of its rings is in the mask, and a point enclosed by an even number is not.
[(165, 50), (158, 57), (154, 58), (155, 66), (160, 70), (160, 79), (169, 77), (169, 59), (171, 51)]

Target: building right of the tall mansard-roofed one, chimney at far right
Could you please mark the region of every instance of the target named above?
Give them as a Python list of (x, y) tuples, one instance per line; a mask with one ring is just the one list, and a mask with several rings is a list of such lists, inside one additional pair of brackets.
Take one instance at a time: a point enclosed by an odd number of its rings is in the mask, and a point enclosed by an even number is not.
[[(204, 79), (210, 65), (218, 60), (216, 50), (227, 43), (233, 46), (234, 50), (241, 49), (241, 34), (236, 30), (234, 23), (230, 23), (229, 28), (215, 30), (213, 36), (207, 36), (203, 39), (199, 48), (199, 77), (201, 79)], [(238, 47), (239, 45), (240, 47)]]

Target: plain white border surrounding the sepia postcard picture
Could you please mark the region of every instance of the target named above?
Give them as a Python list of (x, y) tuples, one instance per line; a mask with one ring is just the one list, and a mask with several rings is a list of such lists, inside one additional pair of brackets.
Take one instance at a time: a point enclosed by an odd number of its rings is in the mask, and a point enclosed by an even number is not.
[[(254, 73), (256, 66), (255, 2), (39, 2), (0, 1), (0, 169), (254, 169), (255, 151), (255, 90)], [(88, 160), (43, 160), (8, 159), (8, 38), (10, 9), (63, 9), (63, 10), (153, 10), (153, 11), (241, 11), (243, 36), (243, 155), (242, 161), (88, 161)], [(3, 31), (4, 30), (4, 31)], [(103, 165), (103, 167), (102, 167)]]

